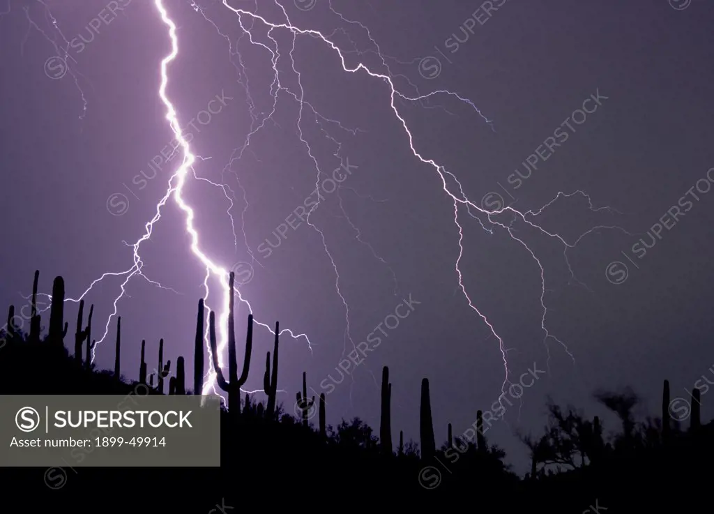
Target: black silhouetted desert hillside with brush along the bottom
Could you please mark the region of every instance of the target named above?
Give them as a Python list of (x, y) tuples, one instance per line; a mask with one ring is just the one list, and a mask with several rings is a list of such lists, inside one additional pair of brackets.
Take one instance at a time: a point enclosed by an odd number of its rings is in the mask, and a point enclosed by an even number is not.
[[(8, 324), (0, 330), (0, 395), (127, 395), (136, 393), (139, 384), (151, 389), (151, 394), (161, 394), (154, 376), (147, 379), (144, 366), (139, 382), (116, 378), (121, 377), (118, 370), (88, 366), (83, 340), (91, 341), (90, 330), (89, 326), (82, 329), (81, 321), (74, 352), (68, 351), (71, 333), (63, 334), (59, 295), (54, 303), (47, 336), (39, 336), (39, 318), (31, 321), (29, 333)], [(196, 348), (201, 350), (196, 359), (203, 350), (202, 314), (199, 303)], [(246, 348), (249, 341), (250, 333)], [(237, 354), (242, 356), (241, 351)], [(169, 390), (164, 383), (169, 394), (191, 393), (185, 391), (180, 360), (176, 373), (164, 381), (169, 382)], [(388, 370), (384, 373), (388, 378)], [(266, 371), (266, 385), (269, 375)], [(277, 371), (273, 377), (277, 380)], [(391, 416), (387, 382), (381, 398), (383, 419)], [(421, 451), (411, 442), (390, 451), (358, 418), (337, 427), (323, 426), (317, 415), (303, 423), (283, 413), (281, 405), (268, 414), (266, 395), (260, 394), (247, 405), (244, 399), (239, 415), (221, 412), (220, 468), (89, 468), (78, 463), (49, 469), (4, 467), (0, 468), (0, 513), (237, 514), (253, 505), (270, 511), (387, 506), (572, 514), (706, 509), (713, 490), (714, 423), (700, 423), (698, 390), (694, 393), (687, 427), (670, 419), (666, 381), (662, 415), (644, 421), (633, 418), (638, 403), (633, 393), (599, 393), (598, 400), (621, 422), (619, 432), (608, 439), (598, 418), (590, 420), (575, 408), (548, 405), (544, 433), (524, 440), (533, 463), (526, 478), (512, 473), (505, 453), (485, 438), (455, 439), (441, 449), (426, 438)], [(422, 390), (422, 405), (422, 423), (431, 425), (428, 384), (426, 397)], [(293, 405), (285, 410), (292, 413)], [(11, 418), (15, 413), (2, 415)], [(611, 428), (615, 427), (608, 431)], [(429, 450), (431, 445), (435, 450)], [(460, 455), (456, 463), (455, 449)], [(449, 463), (448, 470), (443, 463)]]

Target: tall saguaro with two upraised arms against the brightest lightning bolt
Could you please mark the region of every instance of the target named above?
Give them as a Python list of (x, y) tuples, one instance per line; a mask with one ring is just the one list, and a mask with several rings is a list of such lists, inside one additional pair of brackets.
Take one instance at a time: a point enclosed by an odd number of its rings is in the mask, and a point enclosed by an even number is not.
[(251, 351), (253, 349), (253, 315), (248, 315), (248, 334), (246, 335), (246, 356), (243, 359), (243, 372), (238, 377), (238, 361), (236, 356), (236, 331), (233, 319), (233, 297), (235, 296), (233, 284), (235, 283), (235, 273), (231, 271), (228, 278), (228, 381), (223, 376), (223, 371), (218, 363), (218, 343), (216, 341), (216, 316), (211, 311), (208, 316), (208, 331), (211, 340), (211, 357), (213, 360), (213, 371), (216, 371), (216, 382), (218, 387), (228, 393), (228, 408), (232, 412), (233, 420), (238, 420), (241, 413), (241, 385), (248, 380), (248, 371), (251, 366)]

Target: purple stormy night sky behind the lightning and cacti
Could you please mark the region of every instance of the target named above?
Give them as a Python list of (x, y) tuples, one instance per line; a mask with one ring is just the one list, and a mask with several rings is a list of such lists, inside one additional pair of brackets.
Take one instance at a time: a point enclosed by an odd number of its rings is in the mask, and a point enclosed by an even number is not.
[[(306, 371), (313, 394), (329, 390), (328, 423), (376, 428), (389, 366), (395, 437), (418, 440), (428, 377), (440, 444), (508, 390), (500, 337), (511, 383), (549, 370), (486, 432), (521, 471), (513, 434), (540, 429), (547, 395), (608, 430), (594, 390), (632, 386), (644, 416), (664, 378), (675, 398), (709, 377), (710, 3), (161, 4), (201, 251), (236, 271), (256, 321), (307, 336), (281, 336), (288, 413)], [(84, 299), (98, 338), (116, 306), (124, 374), (138, 376), (142, 339), (150, 365), (164, 338), (191, 369), (206, 266), (173, 194), (116, 301), (183, 161), (159, 96), (169, 27), (154, 0), (0, 0), (0, 14), (2, 305), (28, 303), (35, 269), (43, 293), (61, 275), (73, 299), (114, 273)], [(208, 288), (220, 310), (216, 275)], [(68, 301), (71, 330), (74, 316)], [(256, 327), (246, 389), (271, 349)]]

